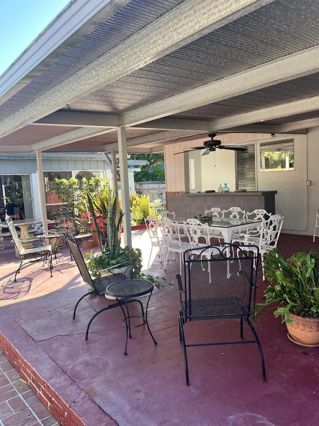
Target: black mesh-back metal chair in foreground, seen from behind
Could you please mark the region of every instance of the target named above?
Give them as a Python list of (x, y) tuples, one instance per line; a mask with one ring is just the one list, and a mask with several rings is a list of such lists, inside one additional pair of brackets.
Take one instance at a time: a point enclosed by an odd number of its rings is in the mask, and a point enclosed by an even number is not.
[[(231, 345), (256, 343), (258, 345), (263, 380), (266, 381), (265, 363), (261, 345), (250, 318), (255, 313), (255, 293), (258, 248), (248, 255), (243, 249), (227, 243), (203, 247), (201, 253), (186, 250), (184, 256), (184, 286), (176, 275), (179, 295), (179, 338), (183, 345), (186, 385), (189, 385), (186, 349), (192, 346)], [(233, 251), (234, 250), (234, 251)], [(236, 253), (233, 255), (233, 253)], [(240, 338), (243, 339), (243, 320), (254, 335), (254, 340), (186, 344), (184, 325), (187, 321), (240, 319)]]

